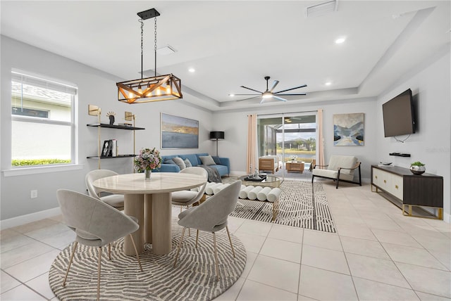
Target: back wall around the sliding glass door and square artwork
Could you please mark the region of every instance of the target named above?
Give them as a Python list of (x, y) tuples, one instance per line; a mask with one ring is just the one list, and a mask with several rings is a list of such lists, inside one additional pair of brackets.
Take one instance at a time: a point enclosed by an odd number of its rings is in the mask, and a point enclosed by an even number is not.
[[(264, 106), (246, 111), (231, 111), (214, 113), (212, 127), (225, 131), (226, 139), (220, 141), (219, 155), (230, 158), (230, 169), (233, 174), (245, 174), (247, 152), (247, 115), (295, 113), (323, 109), (323, 135), (325, 141), (324, 158), (326, 162), (330, 155), (355, 155), (362, 162), (362, 178), (369, 181), (371, 164), (378, 163), (376, 156), (376, 124), (378, 120), (374, 111), (376, 98), (360, 98), (323, 103), (303, 103), (288, 105), (283, 103), (278, 107)], [(364, 146), (333, 146), (333, 115), (342, 113), (364, 113), (365, 145)], [(233, 120), (233, 123), (230, 122)]]

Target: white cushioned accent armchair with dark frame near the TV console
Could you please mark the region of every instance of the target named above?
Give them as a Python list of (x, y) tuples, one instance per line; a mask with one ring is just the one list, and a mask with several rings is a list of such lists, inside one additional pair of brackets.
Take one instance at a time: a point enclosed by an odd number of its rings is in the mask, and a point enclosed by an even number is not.
[[(311, 170), (311, 183), (313, 183), (314, 177), (320, 177), (337, 181), (337, 186), (335, 186), (337, 189), (340, 181), (362, 186), (360, 163), (361, 162), (358, 162), (357, 158), (352, 155), (331, 155), (328, 165), (314, 165)], [(321, 169), (317, 167), (326, 168)], [(358, 182), (354, 181), (354, 172), (356, 169), (359, 170)]]

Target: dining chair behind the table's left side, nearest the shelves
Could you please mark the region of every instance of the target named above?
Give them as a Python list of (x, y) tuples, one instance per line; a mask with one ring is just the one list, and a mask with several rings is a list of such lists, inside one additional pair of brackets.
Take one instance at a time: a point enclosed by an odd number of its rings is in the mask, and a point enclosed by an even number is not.
[(92, 185), (92, 183), (97, 179), (116, 176), (117, 174), (117, 172), (113, 172), (109, 169), (95, 169), (86, 174), (85, 182), (89, 196), (97, 198), (111, 207), (115, 207), (117, 210), (124, 210), (124, 196), (122, 194), (100, 196), (101, 191)]

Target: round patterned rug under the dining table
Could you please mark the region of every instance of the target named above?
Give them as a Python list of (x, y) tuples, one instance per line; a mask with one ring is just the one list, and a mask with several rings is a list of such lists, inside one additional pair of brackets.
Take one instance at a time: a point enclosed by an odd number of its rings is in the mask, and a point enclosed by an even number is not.
[[(101, 300), (212, 300), (237, 281), (245, 269), (246, 250), (231, 235), (236, 257), (233, 258), (226, 230), (216, 233), (220, 280), (216, 281), (213, 236), (199, 231), (195, 248), (195, 231), (185, 232), (177, 266), (173, 267), (181, 227), (173, 222), (173, 250), (168, 255), (154, 255), (152, 245), (140, 254), (143, 272), (135, 257), (123, 254), (123, 239), (104, 249), (101, 261)], [(61, 286), (72, 245), (51, 264), (49, 283), (59, 300), (95, 300), (97, 297), (97, 248), (78, 244), (70, 267), (66, 287)]]

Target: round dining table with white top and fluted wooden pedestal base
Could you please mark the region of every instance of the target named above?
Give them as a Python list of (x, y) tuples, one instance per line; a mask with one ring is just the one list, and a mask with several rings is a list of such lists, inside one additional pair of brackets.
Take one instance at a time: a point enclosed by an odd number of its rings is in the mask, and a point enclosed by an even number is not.
[[(144, 243), (152, 243), (152, 251), (165, 255), (172, 250), (171, 193), (202, 186), (204, 177), (197, 174), (152, 172), (152, 179), (144, 173), (118, 174), (94, 181), (101, 191), (124, 195), (124, 213), (136, 217), (140, 229), (132, 233), (139, 253)], [(124, 241), (125, 255), (135, 255), (129, 236)]]

